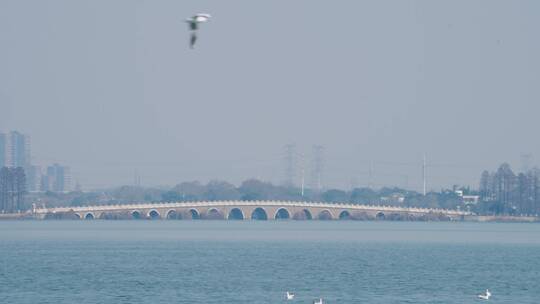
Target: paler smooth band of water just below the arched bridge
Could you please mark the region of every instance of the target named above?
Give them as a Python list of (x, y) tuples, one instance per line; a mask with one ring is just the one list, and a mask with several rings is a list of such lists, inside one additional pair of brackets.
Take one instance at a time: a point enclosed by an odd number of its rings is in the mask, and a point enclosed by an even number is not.
[(540, 224), (255, 220), (0, 222), (0, 240), (23, 239), (540, 244)]

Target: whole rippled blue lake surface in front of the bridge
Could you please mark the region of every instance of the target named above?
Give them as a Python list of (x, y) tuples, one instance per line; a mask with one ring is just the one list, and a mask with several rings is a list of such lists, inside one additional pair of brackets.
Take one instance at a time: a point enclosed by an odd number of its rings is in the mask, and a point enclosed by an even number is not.
[(481, 303), (486, 288), (540, 303), (540, 224), (0, 222), (0, 303)]

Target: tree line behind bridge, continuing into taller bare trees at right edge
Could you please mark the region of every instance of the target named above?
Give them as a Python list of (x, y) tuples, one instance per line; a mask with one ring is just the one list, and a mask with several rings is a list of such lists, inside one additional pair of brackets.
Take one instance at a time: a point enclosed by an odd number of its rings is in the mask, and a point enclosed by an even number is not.
[[(481, 174), (478, 190), (454, 186), (426, 195), (397, 187), (324, 191), (308, 188), (302, 195), (297, 187), (248, 179), (238, 186), (214, 180), (206, 184), (183, 182), (172, 188), (121, 186), (93, 192), (47, 192), (30, 194), (30, 201), (39, 202), (38, 206), (59, 207), (132, 202), (284, 200), (459, 209), (481, 215), (536, 215), (540, 214), (539, 178), (538, 169), (516, 174), (508, 164), (503, 164), (495, 172), (484, 171)], [(471, 203), (464, 199), (466, 196), (477, 197), (478, 202)]]

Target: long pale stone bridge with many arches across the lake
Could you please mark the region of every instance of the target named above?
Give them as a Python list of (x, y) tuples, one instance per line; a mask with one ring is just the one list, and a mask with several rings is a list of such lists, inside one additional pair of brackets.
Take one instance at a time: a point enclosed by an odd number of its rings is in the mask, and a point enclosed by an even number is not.
[(38, 219), (463, 220), (470, 212), (348, 203), (208, 201), (33, 209)]

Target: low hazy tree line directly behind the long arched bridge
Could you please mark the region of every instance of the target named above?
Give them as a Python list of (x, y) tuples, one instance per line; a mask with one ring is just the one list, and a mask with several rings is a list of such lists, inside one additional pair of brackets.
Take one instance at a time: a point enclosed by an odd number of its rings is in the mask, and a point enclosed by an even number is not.
[[(465, 189), (465, 191), (470, 190)], [(327, 189), (324, 191), (308, 188), (305, 189), (302, 195), (300, 188), (289, 185), (275, 185), (257, 179), (248, 179), (239, 186), (226, 181), (214, 180), (206, 184), (198, 181), (183, 182), (169, 189), (122, 186), (84, 193), (47, 192), (38, 194), (38, 197), (33, 197), (32, 200), (39, 200), (48, 207), (127, 204), (132, 202), (283, 200), (443, 209), (465, 208), (461, 198), (452, 189), (430, 192), (423, 196), (416, 191), (397, 187), (383, 187), (380, 189), (364, 187), (352, 190)]]

